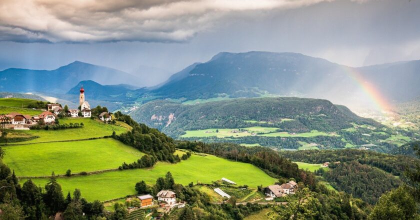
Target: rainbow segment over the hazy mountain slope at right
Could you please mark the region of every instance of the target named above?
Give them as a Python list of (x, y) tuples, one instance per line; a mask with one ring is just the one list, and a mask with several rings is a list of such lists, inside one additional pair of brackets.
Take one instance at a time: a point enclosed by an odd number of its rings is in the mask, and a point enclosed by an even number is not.
[(378, 109), (381, 111), (393, 109), (392, 104), (380, 93), (379, 89), (374, 84), (368, 82), (356, 68), (349, 66), (344, 66), (343, 68), (345, 73), (361, 88)]

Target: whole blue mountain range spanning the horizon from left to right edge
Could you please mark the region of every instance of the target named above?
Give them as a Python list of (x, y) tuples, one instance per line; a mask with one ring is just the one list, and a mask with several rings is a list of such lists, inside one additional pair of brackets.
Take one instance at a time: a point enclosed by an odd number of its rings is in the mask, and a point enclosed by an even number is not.
[(393, 103), (419, 96), (418, 72), (420, 60), (356, 68), (300, 53), (220, 52), (151, 87), (139, 88), (141, 79), (129, 73), (74, 61), (54, 70), (5, 69), (0, 71), (0, 90), (62, 96), (76, 95), (84, 84), (92, 88), (91, 99), (127, 104), (166, 98), (296, 96), (369, 108), (378, 98)]

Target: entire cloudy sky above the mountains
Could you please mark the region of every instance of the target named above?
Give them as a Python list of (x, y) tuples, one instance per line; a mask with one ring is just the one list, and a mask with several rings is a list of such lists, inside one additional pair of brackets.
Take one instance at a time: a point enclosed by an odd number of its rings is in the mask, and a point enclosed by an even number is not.
[(164, 81), (220, 51), (420, 59), (420, 0), (1, 0), (0, 70), (74, 60)]

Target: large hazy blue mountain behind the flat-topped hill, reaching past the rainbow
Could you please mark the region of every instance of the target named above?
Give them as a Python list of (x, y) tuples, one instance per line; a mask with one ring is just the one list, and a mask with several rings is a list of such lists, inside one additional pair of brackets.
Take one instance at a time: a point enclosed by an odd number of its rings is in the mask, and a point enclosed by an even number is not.
[(420, 60), (349, 67), (300, 53), (220, 52), (149, 93), (168, 98), (282, 96), (371, 103), (371, 87), (389, 102), (420, 95)]

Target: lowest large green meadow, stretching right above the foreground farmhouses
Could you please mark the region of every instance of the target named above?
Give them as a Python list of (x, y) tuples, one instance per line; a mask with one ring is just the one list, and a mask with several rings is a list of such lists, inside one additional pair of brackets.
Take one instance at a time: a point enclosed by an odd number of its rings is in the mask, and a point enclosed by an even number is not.
[[(257, 185), (269, 185), (275, 179), (264, 173), (261, 169), (249, 163), (234, 162), (213, 155), (191, 155), (187, 160), (178, 163), (158, 162), (153, 168), (127, 169), (109, 171), (87, 176), (73, 176), (58, 178), (64, 194), (80, 188), (81, 194), (87, 200), (108, 200), (135, 194), (134, 185), (140, 180), (148, 184), (154, 184), (156, 178), (164, 176), (170, 171), (175, 182), (188, 184), (189, 182), (210, 183), (222, 177), (231, 179), (237, 184), (247, 184), (250, 187)], [(43, 186), (47, 179), (32, 179), (35, 183)], [(21, 181), (24, 182), (24, 179)]]

